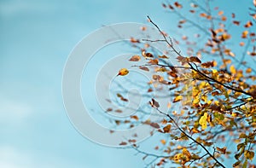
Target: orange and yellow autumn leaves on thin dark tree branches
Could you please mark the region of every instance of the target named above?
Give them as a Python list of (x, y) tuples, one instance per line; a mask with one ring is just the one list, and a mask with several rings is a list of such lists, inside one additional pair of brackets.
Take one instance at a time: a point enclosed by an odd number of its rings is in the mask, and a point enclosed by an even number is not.
[[(179, 29), (189, 26), (195, 34), (183, 34), (181, 40), (170, 38), (148, 17), (162, 38), (144, 39), (146, 44), (143, 45), (141, 40), (131, 38), (133, 46), (142, 53), (131, 56), (129, 61), (147, 61), (134, 67), (154, 73), (148, 82), (148, 93), (162, 91), (170, 101), (162, 104), (157, 96), (149, 98), (149, 106), (165, 116), (159, 122), (131, 116), (131, 121), (123, 124), (132, 127), (136, 121), (150, 125), (159, 134), (166, 135), (166, 139), (160, 140), (163, 148), (156, 143), (157, 153), (151, 154), (142, 151), (135, 144), (136, 140), (120, 145), (134, 144), (133, 148), (144, 155), (143, 159), (153, 158), (152, 166), (171, 163), (180, 167), (230, 167), (224, 165), (224, 159), (235, 158), (233, 167), (255, 167), (256, 3), (253, 1), (247, 11), (249, 20), (237, 20), (235, 11), (225, 15), (217, 7), (212, 9), (209, 1), (192, 1), (190, 7), (185, 8), (189, 11), (183, 10), (186, 4), (170, 2), (162, 3), (162, 7), (177, 14)], [(197, 17), (203, 26), (189, 17)], [(234, 31), (236, 28), (242, 30), (241, 33)], [(143, 27), (142, 31), (146, 29)], [(150, 51), (149, 46), (154, 43), (167, 45), (165, 55)], [(187, 52), (182, 54), (175, 47), (176, 43), (185, 46)], [(176, 55), (177, 65), (168, 63), (173, 55)], [(168, 90), (164, 90), (163, 85)], [(177, 109), (177, 105), (181, 109)]]

